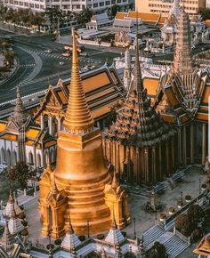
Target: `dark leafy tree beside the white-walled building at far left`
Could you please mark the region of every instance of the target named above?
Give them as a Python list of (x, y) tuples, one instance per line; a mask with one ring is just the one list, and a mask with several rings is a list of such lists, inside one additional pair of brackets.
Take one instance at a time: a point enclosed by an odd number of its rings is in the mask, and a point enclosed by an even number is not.
[(29, 171), (28, 165), (20, 161), (16, 165), (7, 168), (5, 176), (11, 181), (17, 181), (20, 184), (20, 188), (26, 189), (28, 179), (34, 176), (34, 172)]

